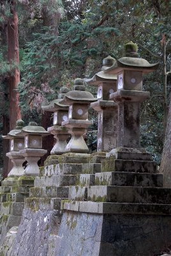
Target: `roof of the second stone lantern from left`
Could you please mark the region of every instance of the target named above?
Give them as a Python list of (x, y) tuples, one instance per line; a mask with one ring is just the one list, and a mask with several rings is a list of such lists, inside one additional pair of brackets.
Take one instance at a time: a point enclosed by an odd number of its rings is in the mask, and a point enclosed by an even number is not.
[(22, 134), (38, 134), (41, 136), (47, 136), (50, 132), (47, 132), (43, 127), (38, 126), (36, 122), (29, 122), (29, 125), (25, 126), (21, 130)]

